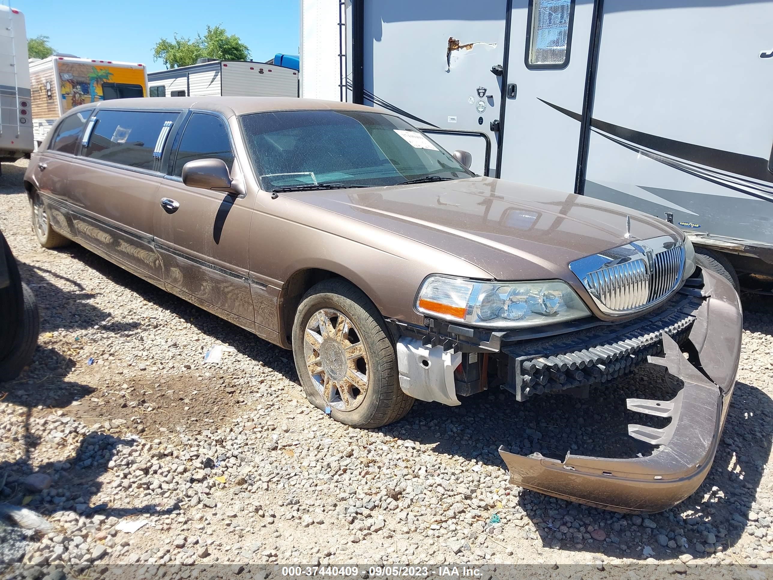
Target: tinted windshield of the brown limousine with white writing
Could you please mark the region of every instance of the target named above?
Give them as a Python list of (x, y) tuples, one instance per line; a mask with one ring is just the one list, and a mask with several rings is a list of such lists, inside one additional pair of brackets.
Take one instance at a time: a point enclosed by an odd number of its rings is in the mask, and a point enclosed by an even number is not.
[(393, 186), (474, 174), (400, 118), (359, 111), (243, 115), (264, 189)]

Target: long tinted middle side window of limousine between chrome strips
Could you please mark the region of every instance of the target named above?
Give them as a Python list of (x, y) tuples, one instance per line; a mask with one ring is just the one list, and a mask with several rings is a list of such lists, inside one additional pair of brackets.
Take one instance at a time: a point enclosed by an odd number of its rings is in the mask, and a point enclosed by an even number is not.
[(153, 168), (153, 148), (165, 121), (178, 113), (151, 111), (99, 111), (83, 155), (140, 169)]

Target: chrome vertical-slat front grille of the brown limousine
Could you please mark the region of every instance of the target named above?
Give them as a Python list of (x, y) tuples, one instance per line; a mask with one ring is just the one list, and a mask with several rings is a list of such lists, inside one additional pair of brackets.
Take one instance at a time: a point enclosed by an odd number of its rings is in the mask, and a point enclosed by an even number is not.
[(569, 264), (602, 312), (628, 314), (666, 299), (684, 270), (684, 246), (661, 236)]

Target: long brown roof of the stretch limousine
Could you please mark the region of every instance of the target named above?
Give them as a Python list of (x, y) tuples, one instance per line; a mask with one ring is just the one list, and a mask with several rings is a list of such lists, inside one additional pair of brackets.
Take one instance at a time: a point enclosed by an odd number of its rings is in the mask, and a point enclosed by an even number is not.
[[(94, 103), (83, 104), (73, 111), (93, 109)], [(264, 113), (266, 111), (308, 111), (309, 109), (370, 111), (373, 107), (360, 104), (298, 99), (293, 97), (143, 97), (99, 101), (100, 109), (203, 109), (217, 111), (229, 117), (232, 114)]]

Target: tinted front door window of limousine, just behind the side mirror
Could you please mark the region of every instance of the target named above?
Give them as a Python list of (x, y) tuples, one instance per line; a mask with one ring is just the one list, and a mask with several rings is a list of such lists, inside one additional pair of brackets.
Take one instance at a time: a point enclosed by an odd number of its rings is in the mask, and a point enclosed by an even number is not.
[(194, 159), (223, 159), (231, 169), (233, 152), (223, 119), (213, 114), (191, 115), (180, 140), (172, 175), (182, 176), (182, 165)]

